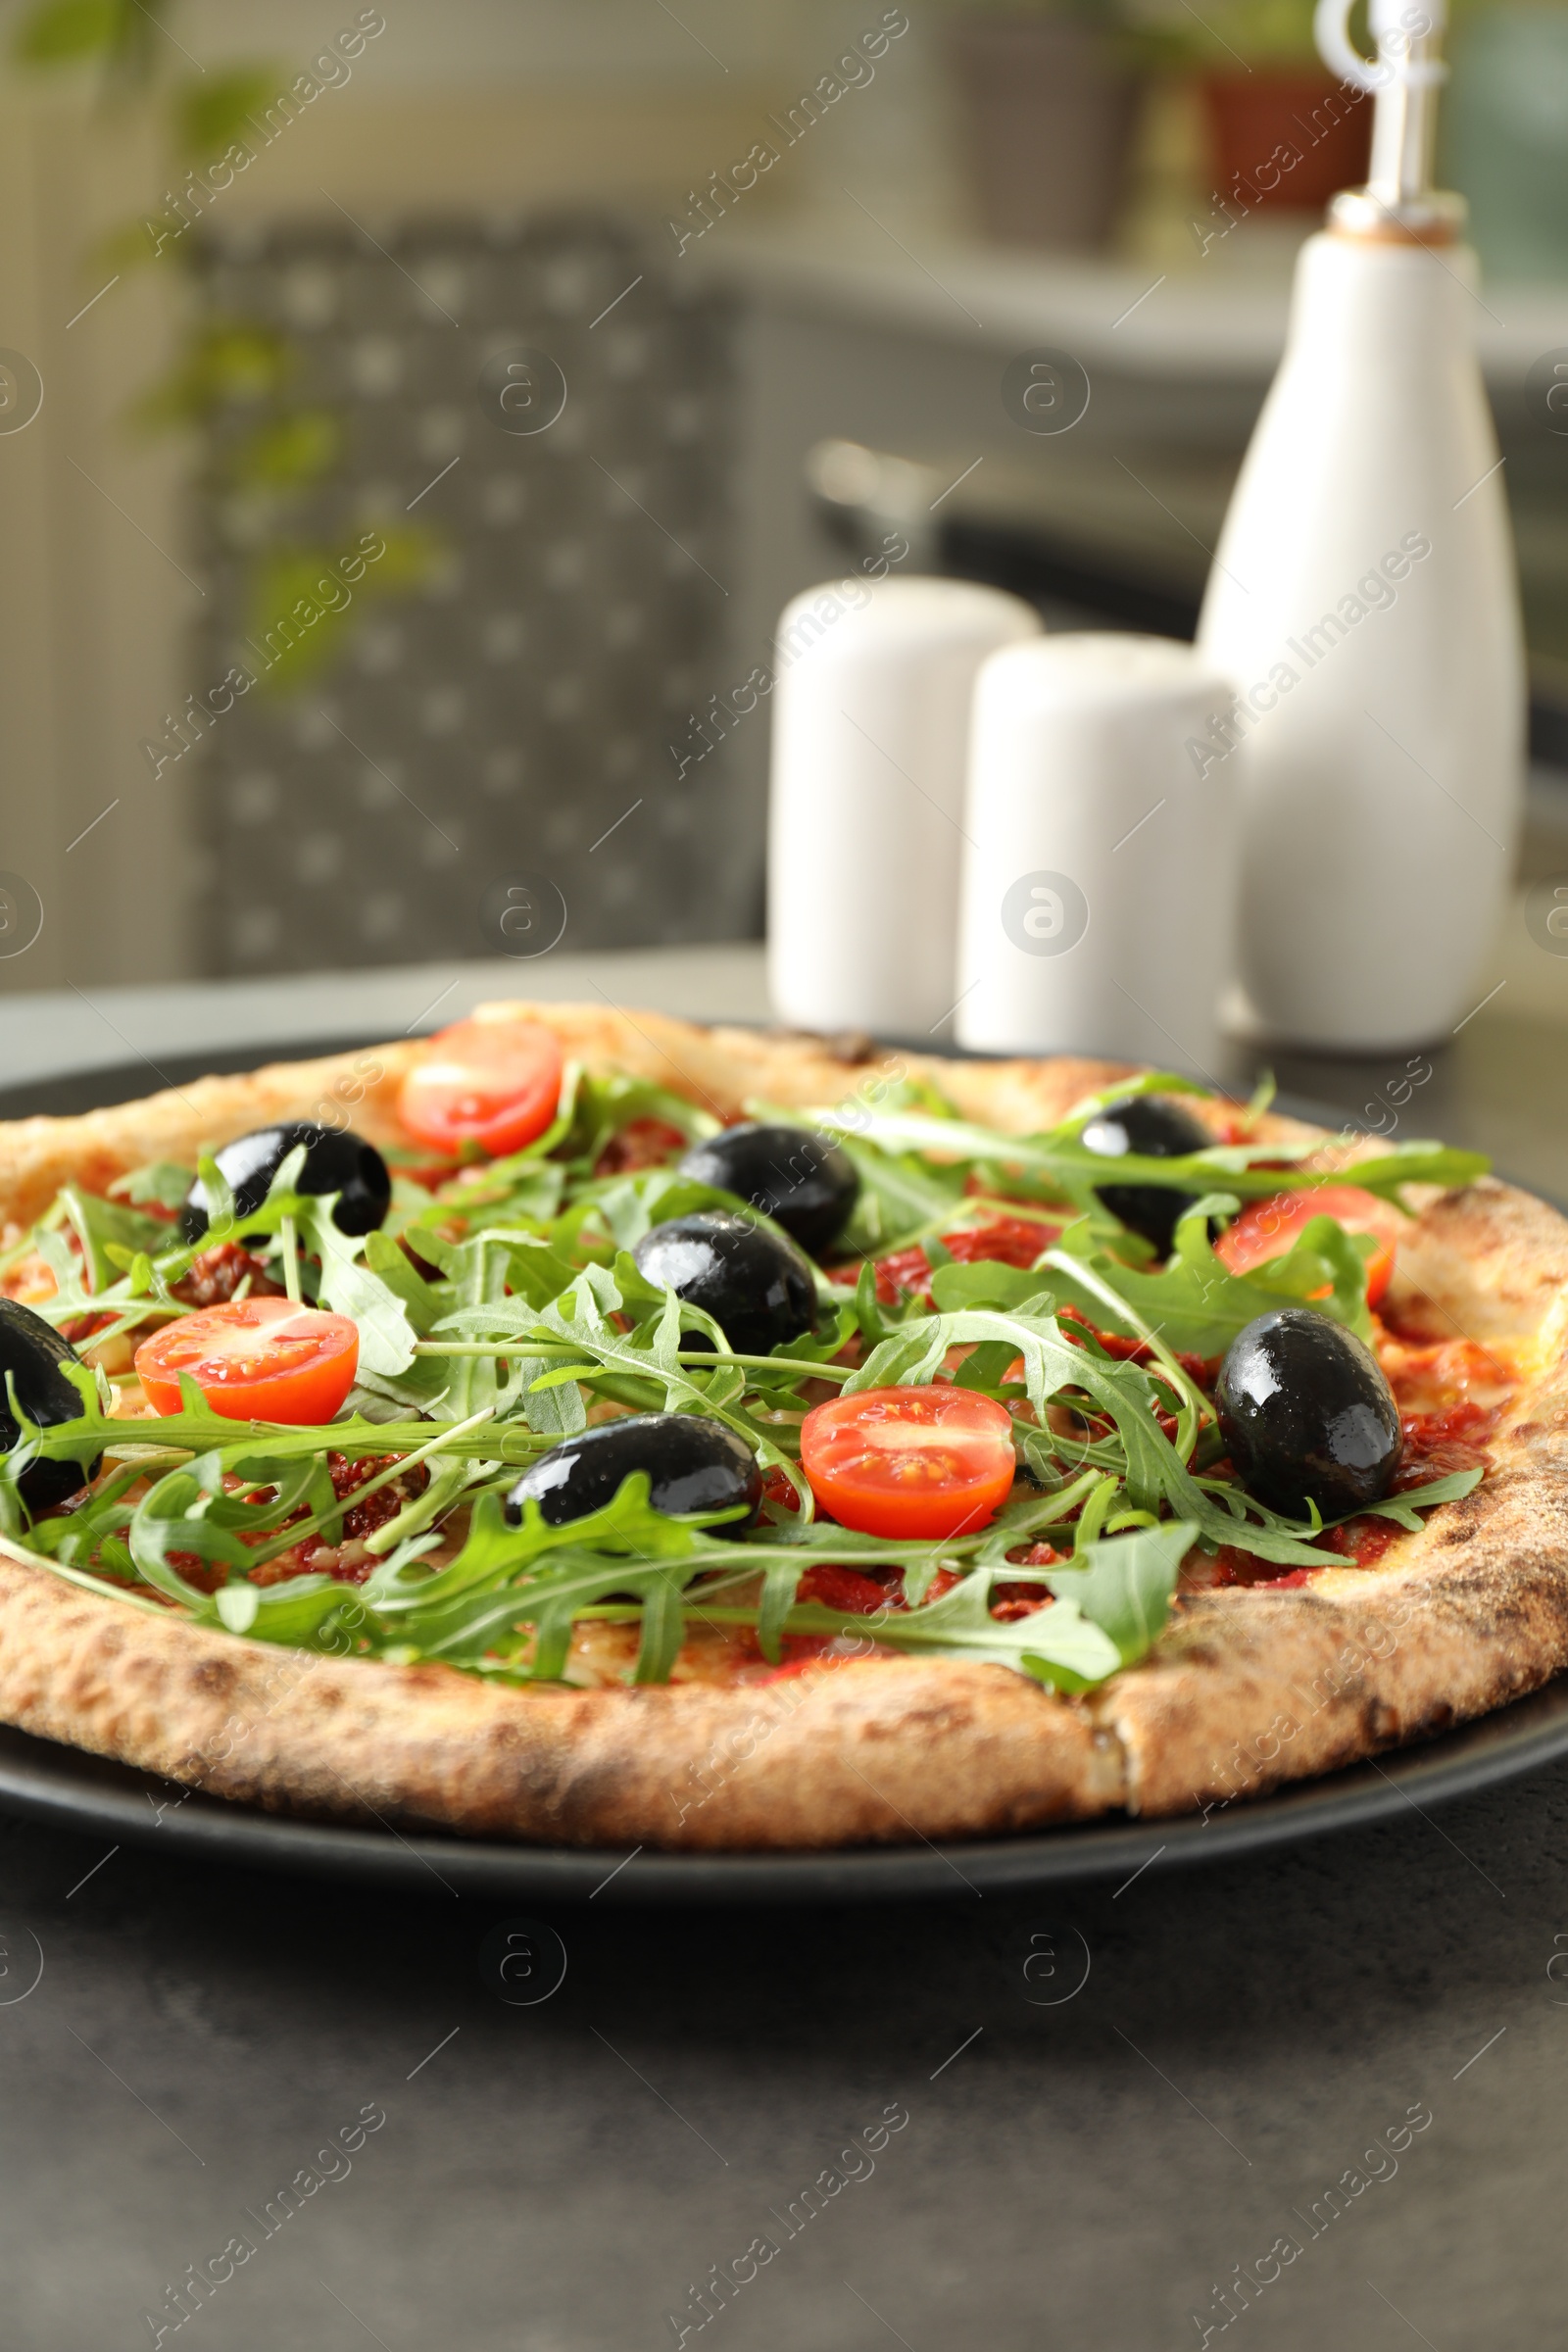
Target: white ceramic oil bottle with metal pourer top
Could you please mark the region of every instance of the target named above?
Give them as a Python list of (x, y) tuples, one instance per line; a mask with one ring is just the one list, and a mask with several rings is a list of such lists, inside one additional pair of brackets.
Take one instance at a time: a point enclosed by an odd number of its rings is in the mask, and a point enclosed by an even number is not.
[(1375, 64), (1347, 12), (1319, 0), (1316, 35), (1375, 92), (1371, 179), (1300, 254), (1199, 626), (1237, 701), (1190, 755), (1237, 771), (1251, 1023), (1375, 1051), (1446, 1037), (1474, 1004), (1514, 866), (1526, 684), (1476, 261), (1462, 200), (1432, 188), (1446, 0), (1371, 0)]

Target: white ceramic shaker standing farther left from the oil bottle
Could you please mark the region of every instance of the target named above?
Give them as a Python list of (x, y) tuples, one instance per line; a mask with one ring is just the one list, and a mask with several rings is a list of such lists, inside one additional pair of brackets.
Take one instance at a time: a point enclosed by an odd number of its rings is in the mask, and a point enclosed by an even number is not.
[(778, 623), (769, 988), (780, 1021), (926, 1037), (952, 1011), (969, 706), (1039, 633), (969, 581), (846, 579)]

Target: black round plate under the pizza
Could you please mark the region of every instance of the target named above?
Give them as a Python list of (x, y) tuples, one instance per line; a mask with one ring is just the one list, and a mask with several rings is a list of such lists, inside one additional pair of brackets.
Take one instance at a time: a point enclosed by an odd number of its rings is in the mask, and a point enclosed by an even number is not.
[[(364, 1040), (346, 1040), (341, 1051)], [(174, 1056), (181, 1084), (207, 1070), (252, 1070), (263, 1061), (315, 1058), (331, 1044), (242, 1047), (223, 1056)], [(0, 1117), (38, 1110), (92, 1110), (148, 1091), (141, 1063), (82, 1070), (54, 1084), (0, 1089)], [(1328, 1103), (1281, 1096), (1279, 1108), (1324, 1127), (1342, 1124)], [(289, 1820), (221, 1797), (181, 1790), (153, 1773), (0, 1724), (0, 1809), (110, 1844), (167, 1842), (188, 1856), (261, 1870), (310, 1870), (397, 1884), (433, 1896), (534, 1896), (557, 1903), (891, 1903), (969, 1898), (983, 1889), (1060, 1886), (1074, 1879), (1128, 1882), (1143, 1870), (1222, 1860), (1328, 1830), (1403, 1818), (1495, 1780), (1542, 1771), (1568, 1755), (1568, 1677), (1495, 1715), (1378, 1764), (1281, 1788), (1237, 1806), (1178, 1820), (1107, 1820), (954, 1846), (858, 1846), (846, 1853), (578, 1853), (510, 1846), (395, 1828), (355, 1830)]]

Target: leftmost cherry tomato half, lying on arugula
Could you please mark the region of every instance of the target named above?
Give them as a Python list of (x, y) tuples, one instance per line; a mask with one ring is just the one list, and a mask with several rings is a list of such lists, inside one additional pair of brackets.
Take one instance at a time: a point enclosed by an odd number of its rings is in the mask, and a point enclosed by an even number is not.
[(355, 1383), (360, 1331), (292, 1298), (230, 1298), (136, 1348), (136, 1378), (160, 1414), (179, 1411), (188, 1371), (226, 1421), (331, 1421)]

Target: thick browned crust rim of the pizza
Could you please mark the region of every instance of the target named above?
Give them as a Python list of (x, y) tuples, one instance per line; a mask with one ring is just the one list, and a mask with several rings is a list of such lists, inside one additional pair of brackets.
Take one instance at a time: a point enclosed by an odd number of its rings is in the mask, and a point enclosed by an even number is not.
[[(717, 1112), (752, 1096), (875, 1101), (907, 1068), (931, 1073), (966, 1115), (1027, 1131), (1126, 1075), (1067, 1058), (860, 1061), (825, 1040), (592, 1007), (484, 1009), (520, 1014), (590, 1065), (656, 1077)], [(393, 1134), (416, 1051), (282, 1063), (0, 1127), (0, 1221), (26, 1225), (71, 1178), (99, 1188), (270, 1117), (343, 1105), (364, 1134)], [(1267, 1131), (1302, 1134), (1286, 1120)], [(1119, 1806), (1180, 1813), (1331, 1771), (1497, 1708), (1568, 1663), (1568, 1223), (1493, 1181), (1434, 1195), (1396, 1279), (1432, 1336), (1535, 1343), (1495, 1472), (1380, 1569), (1326, 1569), (1309, 1590), (1182, 1597), (1152, 1656), (1084, 1700), (1006, 1668), (898, 1658), (745, 1686), (491, 1689), (449, 1668), (207, 1632), (12, 1555), (0, 1557), (0, 1719), (275, 1811), (578, 1846), (978, 1837)]]

